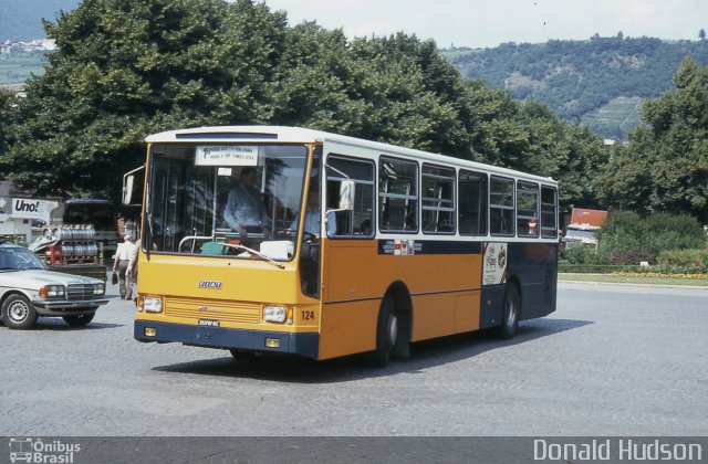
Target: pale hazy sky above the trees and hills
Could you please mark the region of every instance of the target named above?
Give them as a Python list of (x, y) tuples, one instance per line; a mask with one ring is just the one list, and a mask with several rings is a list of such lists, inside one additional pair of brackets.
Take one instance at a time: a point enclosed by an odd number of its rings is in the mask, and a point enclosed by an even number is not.
[(697, 40), (708, 31), (708, 0), (264, 0), (289, 23), (316, 21), (350, 36), (398, 31), (439, 48), (493, 48), (550, 39), (652, 36)]

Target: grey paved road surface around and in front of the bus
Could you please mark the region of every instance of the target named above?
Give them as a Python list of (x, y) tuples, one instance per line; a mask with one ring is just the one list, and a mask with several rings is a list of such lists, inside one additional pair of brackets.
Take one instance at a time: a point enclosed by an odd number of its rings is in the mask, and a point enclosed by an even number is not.
[(418, 344), (384, 370), (143, 345), (133, 310), (0, 327), (0, 435), (708, 434), (705, 288), (561, 283), (513, 340)]

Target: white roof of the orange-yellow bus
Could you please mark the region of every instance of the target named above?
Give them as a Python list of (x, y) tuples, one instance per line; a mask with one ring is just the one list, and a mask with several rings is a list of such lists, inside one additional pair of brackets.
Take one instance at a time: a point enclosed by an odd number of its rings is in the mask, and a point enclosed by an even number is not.
[(282, 144), (308, 143), (335, 143), (365, 149), (378, 150), (382, 155), (415, 157), (416, 159), (456, 166), (458, 168), (480, 169), (492, 173), (523, 177), (529, 180), (556, 184), (550, 177), (535, 176), (523, 171), (501, 168), (483, 162), (469, 161), (446, 155), (431, 154), (413, 148), (404, 148), (391, 144), (383, 144), (355, 137), (348, 137), (323, 130), (306, 129), (302, 127), (284, 126), (212, 126), (195, 127), (188, 129), (168, 130), (154, 134), (145, 138), (148, 144), (169, 143), (264, 143), (278, 141)]

